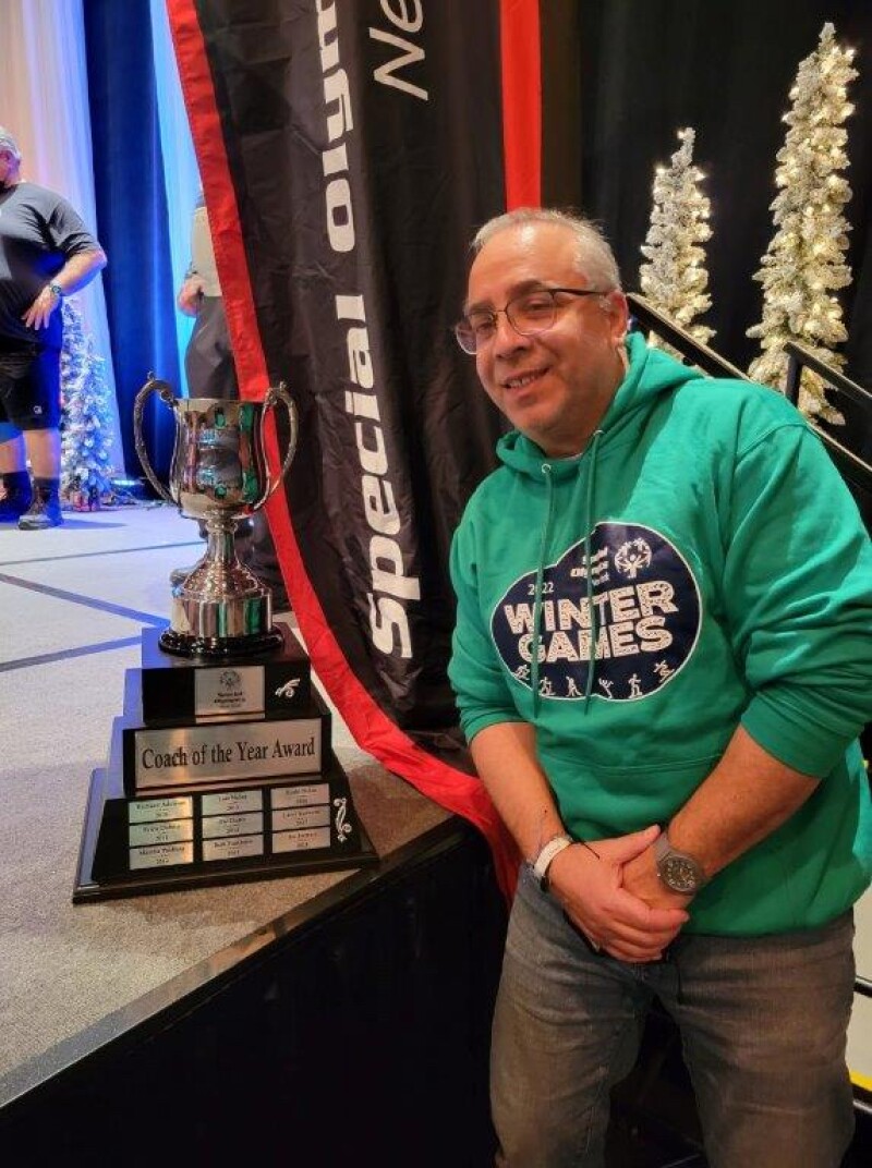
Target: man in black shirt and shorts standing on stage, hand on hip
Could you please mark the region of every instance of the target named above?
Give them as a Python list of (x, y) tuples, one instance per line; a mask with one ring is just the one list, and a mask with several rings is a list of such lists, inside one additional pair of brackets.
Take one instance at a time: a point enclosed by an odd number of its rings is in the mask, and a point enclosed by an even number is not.
[(21, 181), (21, 152), (0, 126), (0, 522), (22, 530), (62, 522), (58, 308), (105, 264), (65, 199)]

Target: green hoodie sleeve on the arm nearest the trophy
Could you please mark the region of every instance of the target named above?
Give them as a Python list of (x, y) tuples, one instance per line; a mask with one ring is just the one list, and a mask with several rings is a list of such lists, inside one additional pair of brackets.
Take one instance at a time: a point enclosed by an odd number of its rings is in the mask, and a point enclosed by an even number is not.
[(457, 695), (461, 729), (468, 742), (498, 722), (522, 722), (491, 640), (478, 593), (475, 522), (468, 514), (451, 543), (451, 582), (457, 595), (448, 674)]

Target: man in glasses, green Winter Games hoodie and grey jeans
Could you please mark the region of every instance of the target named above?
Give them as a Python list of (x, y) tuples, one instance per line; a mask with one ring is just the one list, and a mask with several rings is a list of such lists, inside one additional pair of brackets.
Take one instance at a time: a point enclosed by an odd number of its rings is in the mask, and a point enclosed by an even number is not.
[(712, 1168), (832, 1168), (870, 882), (872, 548), (803, 418), (628, 336), (548, 210), (473, 243), (457, 339), (515, 427), (457, 530), (450, 667), (522, 865), (492, 1048), (510, 1168), (601, 1164), (658, 996)]

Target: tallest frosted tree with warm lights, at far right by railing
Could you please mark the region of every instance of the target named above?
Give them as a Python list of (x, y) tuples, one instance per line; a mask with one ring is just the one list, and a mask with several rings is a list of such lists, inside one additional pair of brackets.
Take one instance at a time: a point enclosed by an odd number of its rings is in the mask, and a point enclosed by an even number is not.
[[(748, 369), (755, 381), (784, 387), (784, 345), (798, 341), (828, 364), (845, 359), (833, 352), (847, 338), (842, 307), (832, 296), (851, 283), (844, 262), (850, 227), (842, 213), (851, 197), (843, 123), (853, 111), (846, 99), (853, 49), (836, 43), (832, 25), (824, 25), (815, 51), (800, 64), (783, 120), (790, 126), (776, 158), (771, 203), (776, 225), (762, 267), (754, 279), (763, 285), (763, 315), (748, 336), (760, 339), (761, 355)], [(828, 403), (821, 380), (804, 370), (800, 409), (810, 417), (842, 422)]]

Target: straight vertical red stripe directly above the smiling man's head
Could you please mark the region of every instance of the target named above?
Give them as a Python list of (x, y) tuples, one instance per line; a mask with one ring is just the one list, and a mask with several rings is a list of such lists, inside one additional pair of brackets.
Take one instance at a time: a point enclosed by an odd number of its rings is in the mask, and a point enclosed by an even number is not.
[(542, 200), (542, 68), (539, 0), (500, 0), (506, 210)]

